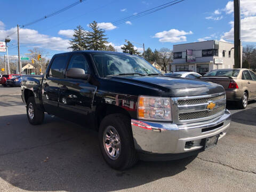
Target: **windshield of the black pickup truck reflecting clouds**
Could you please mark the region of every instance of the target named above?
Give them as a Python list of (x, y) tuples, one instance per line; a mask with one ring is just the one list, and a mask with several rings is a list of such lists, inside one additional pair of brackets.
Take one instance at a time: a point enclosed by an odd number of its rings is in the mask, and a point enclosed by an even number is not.
[(95, 53), (92, 54), (100, 77), (113, 75), (161, 74), (155, 67), (137, 55)]

